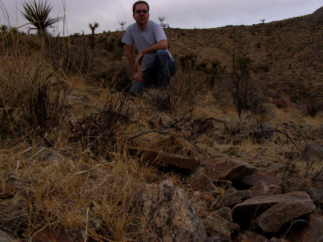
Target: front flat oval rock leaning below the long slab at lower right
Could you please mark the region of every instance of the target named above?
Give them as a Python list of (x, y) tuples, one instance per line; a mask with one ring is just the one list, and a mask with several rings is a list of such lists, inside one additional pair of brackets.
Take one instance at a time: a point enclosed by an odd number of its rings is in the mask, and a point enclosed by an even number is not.
[(277, 233), (293, 219), (308, 215), (315, 210), (312, 201), (278, 203), (255, 219), (262, 233)]

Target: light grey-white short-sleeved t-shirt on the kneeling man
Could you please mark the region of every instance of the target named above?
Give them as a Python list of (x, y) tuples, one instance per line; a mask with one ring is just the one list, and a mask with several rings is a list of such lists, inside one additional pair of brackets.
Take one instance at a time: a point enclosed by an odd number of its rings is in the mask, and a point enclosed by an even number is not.
[[(140, 51), (164, 39), (167, 40), (163, 28), (159, 24), (149, 20), (145, 29), (139, 29), (136, 23), (129, 25), (121, 42), (129, 45), (133, 45), (133, 43), (135, 43), (138, 51)], [(170, 56), (172, 56), (168, 49), (166, 51), (170, 54)], [(143, 69), (153, 66), (154, 57), (155, 53), (143, 55)]]

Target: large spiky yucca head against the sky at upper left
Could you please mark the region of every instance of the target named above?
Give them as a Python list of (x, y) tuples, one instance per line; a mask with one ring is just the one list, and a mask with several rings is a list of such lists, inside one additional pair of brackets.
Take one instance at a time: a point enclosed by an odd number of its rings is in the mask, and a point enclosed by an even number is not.
[(22, 16), (34, 26), (29, 27), (29, 30), (36, 30), (38, 36), (47, 37), (47, 29), (63, 19), (62, 17), (49, 18), (49, 13), (53, 6), (47, 4), (47, 0), (45, 2), (42, 0), (41, 2), (38, 1), (38, 4), (36, 0), (29, 1), (28, 3), (24, 1), (22, 5), (24, 8), (23, 12), (20, 11)]

